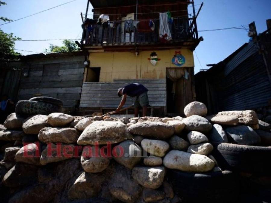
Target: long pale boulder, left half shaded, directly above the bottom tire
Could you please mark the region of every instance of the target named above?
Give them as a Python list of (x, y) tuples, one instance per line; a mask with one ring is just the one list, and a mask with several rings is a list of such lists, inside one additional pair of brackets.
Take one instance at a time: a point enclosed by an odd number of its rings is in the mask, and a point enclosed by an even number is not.
[(211, 171), (215, 162), (205, 155), (171, 150), (163, 159), (165, 167), (187, 172)]

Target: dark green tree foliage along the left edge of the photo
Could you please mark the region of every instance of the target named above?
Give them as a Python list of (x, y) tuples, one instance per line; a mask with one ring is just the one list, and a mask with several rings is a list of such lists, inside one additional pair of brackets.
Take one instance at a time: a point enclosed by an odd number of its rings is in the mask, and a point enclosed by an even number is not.
[[(5, 2), (0, 1), (0, 6), (6, 5)], [(0, 20), (11, 21), (6, 17), (0, 17)], [(15, 60), (20, 53), (14, 51), (15, 41), (21, 38), (13, 36), (13, 33), (5, 33), (0, 29), (0, 62), (8, 62)]]

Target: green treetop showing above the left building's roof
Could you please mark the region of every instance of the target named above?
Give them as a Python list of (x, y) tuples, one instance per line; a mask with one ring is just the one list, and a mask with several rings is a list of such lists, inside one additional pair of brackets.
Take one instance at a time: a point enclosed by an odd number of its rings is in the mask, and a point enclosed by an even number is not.
[(49, 54), (49, 53), (72, 52), (72, 51), (77, 51), (77, 49), (78, 47), (74, 41), (65, 39), (63, 40), (63, 46), (50, 44), (49, 49), (45, 49), (44, 53)]

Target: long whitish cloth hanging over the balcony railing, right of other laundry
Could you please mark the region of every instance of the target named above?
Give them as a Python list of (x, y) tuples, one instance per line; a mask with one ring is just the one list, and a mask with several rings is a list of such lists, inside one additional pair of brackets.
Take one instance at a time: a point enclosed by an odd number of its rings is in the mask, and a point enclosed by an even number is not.
[(159, 29), (159, 38), (161, 42), (166, 42), (172, 40), (171, 32), (169, 30), (168, 14), (160, 13), (159, 14), (160, 29)]

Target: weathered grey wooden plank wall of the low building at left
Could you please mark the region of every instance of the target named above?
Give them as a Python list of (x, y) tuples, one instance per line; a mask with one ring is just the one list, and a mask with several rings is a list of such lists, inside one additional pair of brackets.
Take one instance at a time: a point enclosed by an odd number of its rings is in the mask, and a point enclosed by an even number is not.
[(84, 56), (28, 61), (27, 66), (29, 75), (21, 77), (17, 100), (41, 94), (62, 100), (63, 107), (74, 111), (82, 90)]

